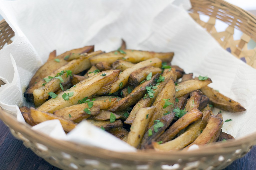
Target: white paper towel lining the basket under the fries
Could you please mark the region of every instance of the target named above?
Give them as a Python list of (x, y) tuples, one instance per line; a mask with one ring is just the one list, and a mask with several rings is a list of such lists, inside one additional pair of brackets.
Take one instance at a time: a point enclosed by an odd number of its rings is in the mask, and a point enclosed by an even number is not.
[[(0, 1), (0, 14), (15, 31), (13, 43), (0, 51), (0, 79), (7, 82), (0, 88), (0, 106), (24, 122), (14, 105), (27, 105), (23, 92), (51, 51), (56, 49), (61, 54), (72, 48), (95, 45), (95, 50), (109, 52), (116, 50), (123, 38), (130, 49), (174, 51), (172, 64), (195, 76), (208, 75), (213, 81), (211, 87), (247, 109), (242, 113), (222, 112), (224, 120), (232, 119), (224, 123), (223, 131), (237, 138), (255, 132), (255, 69), (223, 50), (190, 18), (184, 9), (189, 6), (188, 0)], [(42, 131), (47, 126), (49, 122), (34, 128)], [(101, 129), (84, 129), (89, 126), (82, 122), (66, 137), (60, 137), (58, 131), (63, 135), (63, 129), (57, 123), (54, 132), (44, 133), (105, 149), (120, 150), (108, 144), (112, 143), (125, 151), (134, 151)], [(92, 132), (99, 136), (89, 135)], [(109, 141), (107, 144), (91, 142), (103, 136)]]

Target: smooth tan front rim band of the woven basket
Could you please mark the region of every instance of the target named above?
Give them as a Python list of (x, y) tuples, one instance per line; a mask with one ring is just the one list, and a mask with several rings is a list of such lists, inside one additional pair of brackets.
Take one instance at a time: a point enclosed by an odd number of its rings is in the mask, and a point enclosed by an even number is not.
[[(171, 160), (174, 156), (184, 157), (202, 157), (206, 155), (216, 155), (216, 154), (227, 154), (232, 153), (240, 148), (243, 143), (250, 142), (256, 139), (256, 132), (236, 139), (230, 140), (227, 142), (216, 142), (208, 145), (200, 146), (198, 150), (189, 151), (167, 151), (167, 152), (158, 152), (154, 150), (138, 150), (137, 152), (116, 152), (111, 150), (106, 150), (98, 147), (92, 147), (88, 145), (78, 144), (71, 141), (58, 140), (48, 135), (37, 132), (31, 129), (31, 126), (18, 122), (17, 119), (6, 113), (0, 107), (0, 118), (5, 124), (15, 131), (20, 132), (25, 137), (33, 137), (33, 141), (36, 141), (45, 146), (54, 147), (56, 149), (62, 150), (63, 152), (76, 153), (77, 155), (88, 154), (97, 156), (102, 159), (122, 159), (122, 160), (137, 160), (137, 161), (147, 161), (154, 160), (156, 162), (163, 162)], [(110, 154), (111, 153), (111, 154)], [(150, 154), (149, 154), (150, 153)]]

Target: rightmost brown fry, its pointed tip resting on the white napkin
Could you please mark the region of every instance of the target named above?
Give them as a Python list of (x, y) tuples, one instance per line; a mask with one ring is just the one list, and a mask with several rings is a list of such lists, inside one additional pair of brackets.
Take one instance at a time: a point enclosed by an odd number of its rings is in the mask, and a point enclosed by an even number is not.
[(224, 96), (220, 92), (205, 86), (202, 87), (201, 92), (206, 95), (210, 99), (210, 103), (219, 109), (222, 109), (224, 111), (228, 112), (243, 112), (246, 111), (246, 109), (241, 106), (240, 103)]

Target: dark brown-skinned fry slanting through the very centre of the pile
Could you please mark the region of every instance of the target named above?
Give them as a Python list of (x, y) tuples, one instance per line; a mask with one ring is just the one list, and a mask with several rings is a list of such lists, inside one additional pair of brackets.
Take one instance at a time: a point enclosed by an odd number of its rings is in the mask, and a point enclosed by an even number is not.
[(130, 95), (126, 96), (125, 98), (121, 99), (120, 101), (116, 102), (113, 106), (109, 108), (111, 112), (121, 112), (124, 111), (129, 106), (137, 103), (146, 93), (146, 87), (154, 86), (156, 83), (156, 79), (158, 78), (159, 74), (156, 74), (151, 78), (151, 80), (145, 81), (140, 86), (137, 86)]

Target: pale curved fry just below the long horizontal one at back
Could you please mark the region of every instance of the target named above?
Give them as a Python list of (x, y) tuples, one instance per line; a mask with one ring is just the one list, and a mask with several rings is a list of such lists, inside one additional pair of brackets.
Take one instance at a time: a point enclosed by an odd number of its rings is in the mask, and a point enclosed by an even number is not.
[(135, 64), (130, 68), (125, 69), (123, 72), (120, 73), (119, 79), (112, 84), (110, 93), (114, 93), (119, 89), (122, 89), (127, 84), (129, 76), (133, 71), (146, 66), (161, 67), (162, 61), (159, 58), (151, 58), (151, 59), (142, 61), (138, 64)]

